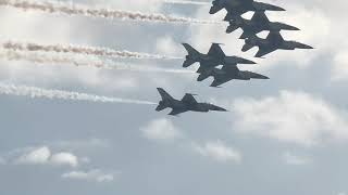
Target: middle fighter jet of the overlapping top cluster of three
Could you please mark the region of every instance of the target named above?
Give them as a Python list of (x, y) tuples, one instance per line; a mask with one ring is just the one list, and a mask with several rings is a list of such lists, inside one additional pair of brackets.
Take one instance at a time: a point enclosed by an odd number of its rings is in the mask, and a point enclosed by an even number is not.
[(257, 11), (251, 17), (251, 20), (246, 20), (243, 18), (240, 15), (235, 15), (233, 20), (229, 21), (229, 26), (227, 27), (226, 32), (231, 34), (238, 28), (241, 28), (244, 31), (240, 36), (240, 39), (246, 39), (263, 30), (299, 30), (299, 28), (284, 23), (270, 22), (264, 11)]

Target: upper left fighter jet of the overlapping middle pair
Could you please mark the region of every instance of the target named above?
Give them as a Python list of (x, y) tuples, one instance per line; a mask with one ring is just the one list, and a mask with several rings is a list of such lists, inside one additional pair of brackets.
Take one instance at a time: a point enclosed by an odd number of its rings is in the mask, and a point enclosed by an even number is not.
[(212, 43), (208, 54), (202, 54), (195, 50), (191, 46), (183, 43), (188, 52), (183, 67), (188, 67), (194, 63), (200, 63), (200, 67), (197, 73), (201, 73), (207, 69), (212, 69), (219, 65), (223, 66), (235, 66), (237, 64), (256, 64), (252, 61), (239, 57), (239, 56), (226, 56), (222, 51), (219, 43)]

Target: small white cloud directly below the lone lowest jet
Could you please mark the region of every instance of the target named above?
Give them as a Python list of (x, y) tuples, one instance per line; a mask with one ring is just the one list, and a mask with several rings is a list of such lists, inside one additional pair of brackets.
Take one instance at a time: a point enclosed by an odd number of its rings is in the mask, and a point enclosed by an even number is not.
[(174, 140), (182, 135), (174, 123), (165, 118), (152, 120), (140, 130), (149, 140)]

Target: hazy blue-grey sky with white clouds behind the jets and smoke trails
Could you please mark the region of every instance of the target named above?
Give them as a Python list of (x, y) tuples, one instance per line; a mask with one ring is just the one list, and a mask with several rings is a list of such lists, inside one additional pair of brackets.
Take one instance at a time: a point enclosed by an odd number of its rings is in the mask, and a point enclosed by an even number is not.
[[(74, 0), (90, 6), (220, 21), (209, 5), (163, 0)], [(156, 88), (229, 113), (170, 117), (156, 105), (72, 102), (0, 95), (0, 188), (10, 195), (345, 195), (348, 192), (348, 24), (344, 0), (269, 1), (269, 13), (301, 31), (285, 39), (315, 50), (241, 53), (240, 30), (224, 25), (90, 18), (0, 6), (0, 41), (105, 47), (185, 56), (188, 42), (207, 52), (224, 43), (229, 55), (257, 61), (271, 80), (233, 81), (211, 89), (183, 73), (183, 60), (113, 60), (144, 72), (0, 60), (1, 83), (158, 102)], [(250, 14), (249, 14), (250, 16)], [(248, 14), (246, 15), (248, 17)], [(261, 37), (264, 34), (260, 35)], [(54, 53), (52, 53), (54, 54)], [(76, 56), (77, 57), (77, 56)], [(84, 57), (84, 56), (79, 56)], [(103, 58), (100, 58), (103, 60)]]

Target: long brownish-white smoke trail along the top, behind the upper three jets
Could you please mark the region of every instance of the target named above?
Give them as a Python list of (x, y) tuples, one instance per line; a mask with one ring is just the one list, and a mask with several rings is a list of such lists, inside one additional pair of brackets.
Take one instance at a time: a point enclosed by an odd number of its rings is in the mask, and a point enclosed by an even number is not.
[(220, 22), (200, 21), (187, 17), (169, 16), (163, 14), (146, 14), (140, 12), (129, 12), (121, 10), (109, 9), (91, 9), (83, 5), (64, 3), (64, 2), (37, 2), (34, 0), (0, 0), (0, 5), (13, 6), (16, 9), (36, 10), (47, 13), (64, 13), (67, 15), (84, 15), (91, 17), (103, 18), (120, 18), (120, 20), (134, 20), (134, 21), (148, 21), (148, 22), (162, 22), (162, 23), (197, 23), (197, 24), (219, 24)]

